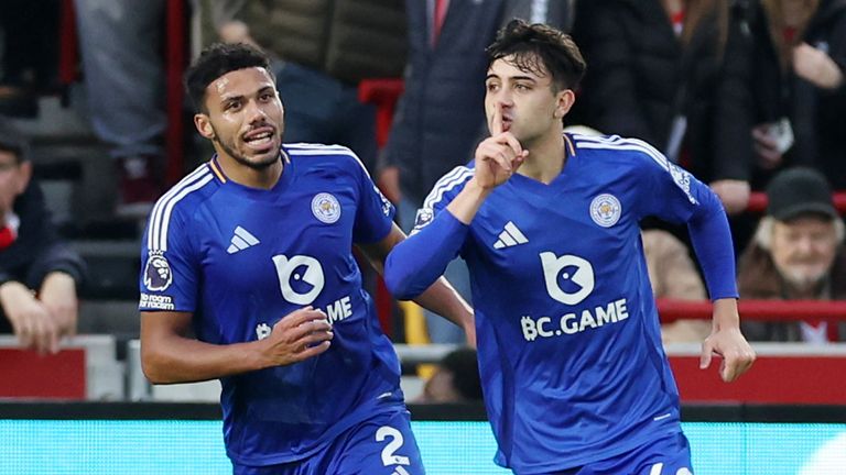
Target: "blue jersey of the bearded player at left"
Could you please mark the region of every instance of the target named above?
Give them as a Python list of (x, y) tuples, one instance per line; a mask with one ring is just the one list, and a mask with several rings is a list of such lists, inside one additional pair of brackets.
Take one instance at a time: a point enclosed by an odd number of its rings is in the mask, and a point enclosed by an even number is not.
[(306, 306), (333, 325), (316, 357), (221, 379), (227, 453), (245, 465), (304, 459), (404, 410), (397, 354), (351, 254), (389, 234), (393, 207), (346, 147), (286, 144), (283, 157), (270, 190), (228, 179), (213, 158), (156, 202), (143, 239), (140, 309), (193, 312), (204, 342), (265, 338)]

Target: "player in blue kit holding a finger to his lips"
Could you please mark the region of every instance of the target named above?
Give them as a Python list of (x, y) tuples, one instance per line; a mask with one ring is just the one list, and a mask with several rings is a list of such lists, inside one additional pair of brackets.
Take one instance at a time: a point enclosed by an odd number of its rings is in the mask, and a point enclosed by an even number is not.
[(701, 366), (731, 382), (755, 353), (716, 196), (638, 140), (564, 133), (585, 70), (570, 36), (512, 21), (488, 48), (491, 136), (434, 187), (388, 257), (399, 298), (460, 254), (470, 270), (496, 461), (517, 474), (693, 473), (639, 221), (686, 223), (714, 300)]

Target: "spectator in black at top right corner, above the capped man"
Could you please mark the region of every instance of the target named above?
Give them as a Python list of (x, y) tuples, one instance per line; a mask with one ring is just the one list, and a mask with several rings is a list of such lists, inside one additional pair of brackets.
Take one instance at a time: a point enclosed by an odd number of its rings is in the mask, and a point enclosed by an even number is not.
[(762, 0), (755, 22), (753, 129), (761, 168), (824, 172), (846, 188), (846, 1)]

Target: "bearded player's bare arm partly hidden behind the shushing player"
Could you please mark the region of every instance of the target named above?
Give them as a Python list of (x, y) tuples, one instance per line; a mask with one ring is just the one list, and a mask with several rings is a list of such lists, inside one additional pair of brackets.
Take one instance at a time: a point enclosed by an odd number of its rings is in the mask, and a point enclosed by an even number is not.
[[(384, 274), (384, 262), (393, 246), (405, 240), (405, 233), (397, 224), (382, 240), (371, 244), (357, 244), (358, 248), (367, 256), (370, 265), (379, 273)], [(414, 299), (421, 307), (431, 310), (463, 328), (467, 333), (467, 341), (475, 346), (475, 325), (473, 309), (453, 288), (449, 283), (440, 277), (423, 294)]]

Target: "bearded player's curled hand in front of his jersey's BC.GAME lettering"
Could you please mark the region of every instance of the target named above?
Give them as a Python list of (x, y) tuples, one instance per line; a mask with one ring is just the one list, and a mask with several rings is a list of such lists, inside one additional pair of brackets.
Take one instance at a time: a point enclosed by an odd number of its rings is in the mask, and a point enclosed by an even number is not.
[(261, 342), (264, 354), (281, 366), (325, 352), (333, 336), (326, 313), (310, 306), (284, 316)]

